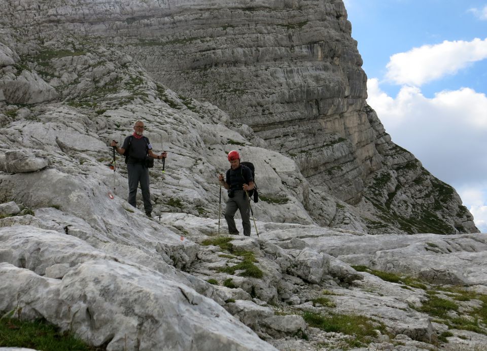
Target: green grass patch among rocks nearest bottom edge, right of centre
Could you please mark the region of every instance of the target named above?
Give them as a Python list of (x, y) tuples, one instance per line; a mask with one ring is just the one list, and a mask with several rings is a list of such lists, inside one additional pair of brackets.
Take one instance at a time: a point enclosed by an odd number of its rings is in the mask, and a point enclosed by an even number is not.
[(320, 328), (326, 332), (353, 335), (348, 341), (351, 347), (361, 347), (369, 343), (368, 337), (376, 337), (375, 330), (388, 334), (384, 324), (372, 321), (363, 315), (330, 314), (324, 316), (319, 313), (304, 312), (304, 321), (310, 326)]

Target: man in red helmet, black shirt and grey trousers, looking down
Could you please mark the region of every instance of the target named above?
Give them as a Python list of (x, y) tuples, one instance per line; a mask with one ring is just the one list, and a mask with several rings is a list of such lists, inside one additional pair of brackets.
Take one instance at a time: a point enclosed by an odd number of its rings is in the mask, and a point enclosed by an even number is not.
[(233, 150), (228, 153), (230, 169), (227, 170), (225, 179), (223, 174), (218, 175), (220, 184), (228, 190), (228, 200), (225, 207), (225, 220), (228, 224), (228, 232), (238, 235), (235, 226), (235, 212), (240, 210), (242, 217), (243, 235), (250, 236), (250, 204), (246, 192), (254, 189), (254, 178), (249, 167), (240, 164), (240, 155)]

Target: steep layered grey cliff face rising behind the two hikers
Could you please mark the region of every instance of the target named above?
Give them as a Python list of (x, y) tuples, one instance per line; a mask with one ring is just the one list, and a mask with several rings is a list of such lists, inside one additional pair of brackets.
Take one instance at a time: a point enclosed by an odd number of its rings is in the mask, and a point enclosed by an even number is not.
[[(309, 183), (302, 204), (322, 225), (477, 231), (455, 190), (392, 143), (366, 105), (366, 75), (341, 0), (9, 1), (0, 11), (4, 38), (20, 56), (103, 45), (249, 125), (268, 149), (297, 163)], [(10, 103), (55, 99), (60, 89), (63, 98), (77, 96), (69, 75), (17, 71), (4, 78)], [(25, 81), (38, 81), (41, 96), (26, 101)]]

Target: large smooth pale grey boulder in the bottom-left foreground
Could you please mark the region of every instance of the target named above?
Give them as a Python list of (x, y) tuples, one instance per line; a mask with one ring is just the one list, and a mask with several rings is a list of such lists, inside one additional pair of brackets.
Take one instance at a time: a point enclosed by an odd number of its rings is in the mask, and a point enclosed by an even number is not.
[(0, 286), (8, 296), (0, 310), (20, 306), (25, 318), (44, 317), (107, 350), (275, 350), (213, 300), (148, 269), (89, 261), (58, 280), (0, 263), (0, 276), (10, 282)]

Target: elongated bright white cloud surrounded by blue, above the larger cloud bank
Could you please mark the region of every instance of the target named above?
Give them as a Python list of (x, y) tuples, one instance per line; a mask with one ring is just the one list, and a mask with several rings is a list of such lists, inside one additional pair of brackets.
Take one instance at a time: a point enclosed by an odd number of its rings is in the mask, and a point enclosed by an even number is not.
[(487, 58), (487, 38), (470, 42), (444, 41), (394, 54), (387, 64), (386, 78), (396, 84), (421, 86), (452, 75), (475, 61)]

